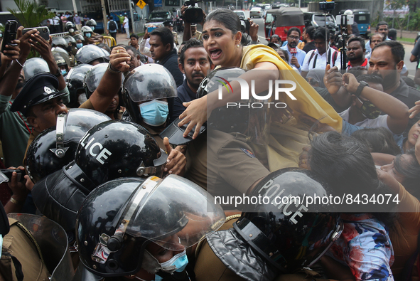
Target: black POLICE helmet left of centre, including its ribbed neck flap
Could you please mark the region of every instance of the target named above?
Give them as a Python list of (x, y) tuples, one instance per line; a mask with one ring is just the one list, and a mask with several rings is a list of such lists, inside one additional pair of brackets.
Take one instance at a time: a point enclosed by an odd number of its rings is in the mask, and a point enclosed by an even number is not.
[(70, 233), (83, 200), (99, 184), (124, 176), (162, 176), (167, 154), (139, 125), (111, 120), (87, 131), (74, 157), (32, 189), (41, 213)]

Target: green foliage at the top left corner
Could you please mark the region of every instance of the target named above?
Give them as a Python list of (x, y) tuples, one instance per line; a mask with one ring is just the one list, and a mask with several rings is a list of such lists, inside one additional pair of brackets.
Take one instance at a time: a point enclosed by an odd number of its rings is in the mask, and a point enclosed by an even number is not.
[(7, 10), (26, 28), (40, 26), (43, 20), (55, 16), (45, 9), (44, 5), (38, 5), (35, 0), (14, 0), (14, 2), (18, 9)]

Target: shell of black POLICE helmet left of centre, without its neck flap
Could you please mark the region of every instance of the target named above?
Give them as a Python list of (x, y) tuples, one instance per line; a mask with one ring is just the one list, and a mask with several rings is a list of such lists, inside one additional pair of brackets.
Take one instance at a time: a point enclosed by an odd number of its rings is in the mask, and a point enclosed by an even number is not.
[(91, 181), (81, 184), (92, 190), (92, 186), (122, 176), (162, 176), (167, 158), (143, 127), (131, 122), (107, 121), (92, 127), (80, 140), (75, 164), (85, 175), (82, 178)]

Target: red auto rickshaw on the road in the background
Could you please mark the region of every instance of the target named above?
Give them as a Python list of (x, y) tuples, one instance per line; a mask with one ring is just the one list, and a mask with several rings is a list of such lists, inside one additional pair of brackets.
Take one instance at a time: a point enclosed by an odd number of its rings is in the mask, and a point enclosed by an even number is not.
[(272, 9), (266, 12), (264, 18), (265, 36), (269, 38), (274, 34), (280, 36), (281, 41), (286, 41), (287, 31), (292, 27), (297, 27), (303, 32), (305, 21), (303, 12), (298, 8), (280, 8)]

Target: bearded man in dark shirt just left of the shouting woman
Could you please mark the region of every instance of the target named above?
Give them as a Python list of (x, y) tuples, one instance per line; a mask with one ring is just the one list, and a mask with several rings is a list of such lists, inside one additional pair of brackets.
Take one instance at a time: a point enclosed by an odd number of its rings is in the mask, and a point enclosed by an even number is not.
[(195, 100), (198, 86), (210, 70), (210, 59), (203, 47), (203, 41), (198, 41), (195, 38), (191, 38), (185, 43), (179, 55), (179, 61), (179, 70), (185, 74), (186, 79), (177, 89), (178, 97), (175, 97), (173, 103), (171, 121), (184, 112), (183, 102)]

